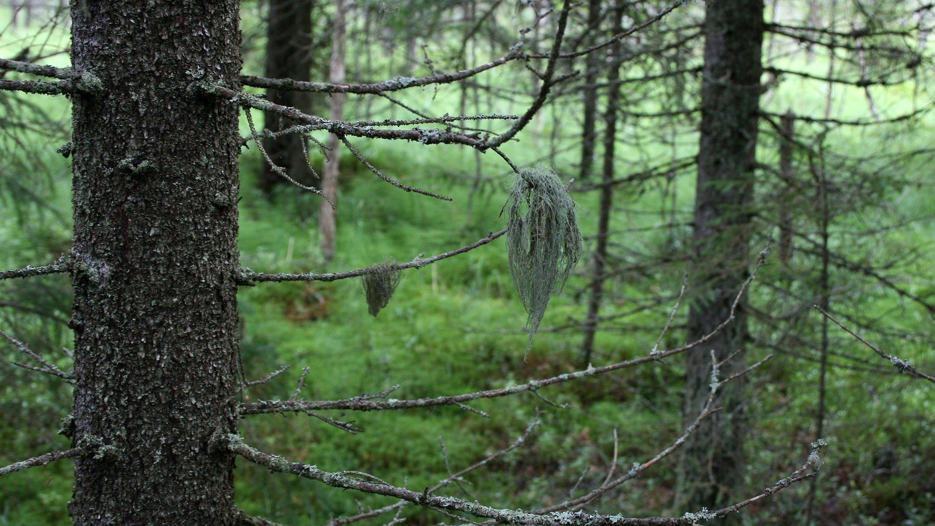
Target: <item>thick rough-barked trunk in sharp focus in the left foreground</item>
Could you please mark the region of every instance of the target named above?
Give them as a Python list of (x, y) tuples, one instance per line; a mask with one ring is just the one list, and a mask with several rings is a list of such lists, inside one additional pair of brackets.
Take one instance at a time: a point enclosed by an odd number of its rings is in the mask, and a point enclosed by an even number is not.
[(79, 526), (234, 523), (237, 4), (72, 2)]

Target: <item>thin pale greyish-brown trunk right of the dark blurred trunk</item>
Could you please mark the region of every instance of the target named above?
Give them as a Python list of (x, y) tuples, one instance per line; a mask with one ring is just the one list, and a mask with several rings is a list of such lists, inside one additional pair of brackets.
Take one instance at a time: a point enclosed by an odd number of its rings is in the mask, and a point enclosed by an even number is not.
[[(331, 49), (331, 65), (329, 66), (328, 77), (331, 82), (341, 83), (344, 81), (344, 47), (347, 39), (347, 27), (345, 15), (347, 14), (347, 0), (335, 0), (335, 36)], [(344, 118), (344, 99), (347, 95), (331, 94), (331, 109), (329, 119), (340, 121)], [(318, 232), (322, 248), (322, 256), (325, 261), (331, 261), (335, 257), (335, 246), (338, 239), (338, 226), (336, 225), (335, 209), (332, 203), (338, 204), (338, 175), (340, 171), (340, 148), (341, 143), (338, 136), (331, 134), (328, 136), (328, 147), (330, 148), (327, 157), (324, 160), (324, 176), (322, 177), (322, 193), (324, 197), (331, 200), (322, 199), (321, 212), (318, 215)]]

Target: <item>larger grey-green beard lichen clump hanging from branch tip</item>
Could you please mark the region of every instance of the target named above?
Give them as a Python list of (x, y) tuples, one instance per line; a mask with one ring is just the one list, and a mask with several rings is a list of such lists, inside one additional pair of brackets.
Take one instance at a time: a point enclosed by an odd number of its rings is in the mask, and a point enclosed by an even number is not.
[(582, 234), (575, 202), (551, 169), (521, 169), (513, 180), (507, 206), (510, 273), (529, 314), (528, 353), (549, 299), (562, 291), (581, 256)]

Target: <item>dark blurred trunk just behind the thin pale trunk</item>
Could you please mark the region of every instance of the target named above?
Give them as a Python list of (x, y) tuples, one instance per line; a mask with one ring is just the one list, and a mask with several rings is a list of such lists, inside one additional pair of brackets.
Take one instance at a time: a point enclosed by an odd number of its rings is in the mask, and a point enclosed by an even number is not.
[[(266, 77), (273, 79), (311, 80), (311, 11), (315, 0), (269, 0), (269, 20), (266, 22)], [(311, 113), (312, 94), (295, 91), (269, 90), (266, 99)], [(278, 131), (289, 127), (281, 118), (269, 114), (266, 128)], [(263, 147), (277, 166), (285, 168), (295, 181), (313, 183), (313, 176), (296, 134), (276, 139), (263, 139)], [(260, 188), (268, 193), (286, 180), (264, 163), (260, 172)]]

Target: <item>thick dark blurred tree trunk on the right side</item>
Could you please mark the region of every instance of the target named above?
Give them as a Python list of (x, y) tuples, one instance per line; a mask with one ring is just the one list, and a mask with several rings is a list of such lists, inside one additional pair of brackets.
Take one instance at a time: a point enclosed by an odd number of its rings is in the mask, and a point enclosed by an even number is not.
[[(726, 320), (748, 275), (763, 31), (763, 0), (707, 3), (689, 341)], [(722, 378), (743, 367), (745, 305), (741, 300), (731, 324), (689, 351), (686, 424), (698, 416), (710, 389), (710, 351), (719, 360), (739, 351), (721, 366)], [(734, 489), (743, 482), (743, 379), (722, 388), (715, 405), (723, 410), (708, 418), (682, 449), (676, 504), (683, 511), (714, 509), (740, 497)]]

